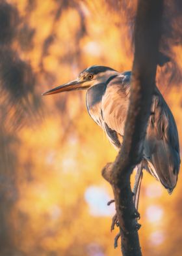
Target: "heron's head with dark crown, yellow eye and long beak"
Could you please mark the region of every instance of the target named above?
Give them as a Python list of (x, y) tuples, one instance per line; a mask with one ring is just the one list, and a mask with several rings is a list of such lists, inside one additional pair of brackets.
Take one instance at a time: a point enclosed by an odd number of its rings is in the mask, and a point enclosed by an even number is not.
[(46, 91), (42, 95), (50, 95), (54, 93), (61, 93), (62, 91), (73, 91), (76, 89), (88, 89), (96, 84), (107, 82), (110, 76), (118, 74), (117, 71), (110, 67), (92, 66), (82, 71), (76, 80), (68, 84), (62, 84), (54, 89)]

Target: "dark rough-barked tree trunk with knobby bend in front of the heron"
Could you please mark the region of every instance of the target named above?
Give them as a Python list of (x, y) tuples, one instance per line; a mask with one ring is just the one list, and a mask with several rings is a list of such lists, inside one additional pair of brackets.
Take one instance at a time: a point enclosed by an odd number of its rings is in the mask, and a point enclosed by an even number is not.
[(162, 10), (162, 0), (138, 1), (131, 98), (122, 149), (114, 163), (103, 169), (103, 177), (110, 182), (114, 191), (123, 256), (142, 255), (138, 238), (140, 226), (136, 221), (137, 212), (133, 204), (130, 176), (133, 168), (142, 159), (159, 59)]

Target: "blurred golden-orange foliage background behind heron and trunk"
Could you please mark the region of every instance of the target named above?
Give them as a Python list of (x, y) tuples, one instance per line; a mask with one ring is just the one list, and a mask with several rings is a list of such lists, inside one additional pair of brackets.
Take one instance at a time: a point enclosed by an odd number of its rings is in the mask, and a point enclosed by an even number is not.
[[(182, 142), (181, 1), (164, 1), (157, 70)], [(85, 91), (42, 97), (90, 65), (131, 70), (136, 1), (0, 1), (0, 255), (113, 256), (114, 205), (101, 168), (116, 152), (86, 112)], [(144, 174), (144, 255), (182, 255), (182, 177), (172, 195)]]

